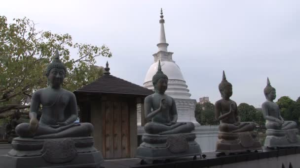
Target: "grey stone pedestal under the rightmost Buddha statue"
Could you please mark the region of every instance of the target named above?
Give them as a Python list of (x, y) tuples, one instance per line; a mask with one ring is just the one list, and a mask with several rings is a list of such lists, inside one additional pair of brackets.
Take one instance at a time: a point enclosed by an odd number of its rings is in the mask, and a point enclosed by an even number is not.
[(300, 146), (298, 129), (290, 130), (266, 130), (266, 138), (264, 140), (264, 146), (266, 147), (292, 147)]

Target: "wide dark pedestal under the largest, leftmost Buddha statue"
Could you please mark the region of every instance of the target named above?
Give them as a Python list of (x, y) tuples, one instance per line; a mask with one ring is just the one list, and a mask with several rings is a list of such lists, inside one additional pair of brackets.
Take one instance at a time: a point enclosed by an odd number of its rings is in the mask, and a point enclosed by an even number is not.
[(99, 168), (101, 153), (93, 137), (63, 139), (15, 138), (13, 149), (0, 157), (5, 168)]

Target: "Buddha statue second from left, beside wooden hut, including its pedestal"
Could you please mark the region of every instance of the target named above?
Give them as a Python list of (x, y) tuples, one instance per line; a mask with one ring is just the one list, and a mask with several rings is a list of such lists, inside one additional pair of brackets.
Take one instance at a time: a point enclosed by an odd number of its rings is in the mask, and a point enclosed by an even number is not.
[(177, 122), (175, 100), (166, 95), (168, 77), (161, 71), (160, 60), (156, 74), (152, 78), (155, 93), (145, 98), (146, 134), (137, 148), (137, 158), (163, 160), (201, 154), (192, 122)]

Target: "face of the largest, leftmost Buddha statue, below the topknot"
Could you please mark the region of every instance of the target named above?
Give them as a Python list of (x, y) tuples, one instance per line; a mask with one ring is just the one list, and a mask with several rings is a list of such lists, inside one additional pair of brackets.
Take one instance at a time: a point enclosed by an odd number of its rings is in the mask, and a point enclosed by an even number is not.
[(47, 76), (49, 84), (53, 87), (59, 87), (65, 79), (65, 69), (54, 67)]

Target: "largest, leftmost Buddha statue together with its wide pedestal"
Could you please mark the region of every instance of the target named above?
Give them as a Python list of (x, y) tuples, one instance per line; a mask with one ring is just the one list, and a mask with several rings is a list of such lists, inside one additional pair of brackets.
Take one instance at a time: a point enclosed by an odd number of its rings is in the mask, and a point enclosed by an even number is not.
[[(94, 138), (90, 137), (93, 125), (74, 123), (77, 119), (75, 95), (62, 88), (66, 72), (56, 51), (46, 70), (49, 86), (32, 95), (30, 123), (16, 127), (19, 137), (12, 140), (13, 149), (0, 160), (4, 165), (13, 164), (7, 168), (23, 168), (24, 163), (27, 168), (79, 168), (86, 165), (98, 168), (103, 162), (101, 153), (93, 146)], [(42, 114), (38, 121), (40, 105)]]

